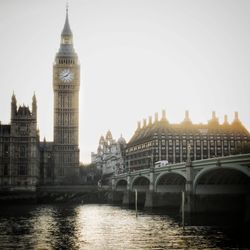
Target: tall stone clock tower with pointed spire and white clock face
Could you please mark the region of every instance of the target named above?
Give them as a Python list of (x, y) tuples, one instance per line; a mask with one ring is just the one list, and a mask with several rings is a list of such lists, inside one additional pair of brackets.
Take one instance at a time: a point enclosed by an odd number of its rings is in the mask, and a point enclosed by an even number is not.
[(73, 47), (68, 7), (61, 44), (53, 65), (54, 181), (72, 183), (79, 176), (80, 64)]

